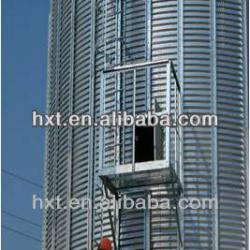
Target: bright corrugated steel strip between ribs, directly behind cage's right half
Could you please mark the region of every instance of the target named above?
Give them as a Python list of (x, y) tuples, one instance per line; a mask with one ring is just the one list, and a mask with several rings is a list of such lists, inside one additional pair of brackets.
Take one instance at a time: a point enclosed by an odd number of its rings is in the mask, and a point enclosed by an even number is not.
[[(177, 60), (177, 1), (152, 1), (152, 61)], [(151, 71), (151, 101), (156, 98), (162, 110), (166, 109), (166, 66)], [(165, 152), (165, 151), (164, 151)], [(171, 187), (153, 188), (152, 198), (172, 201)], [(151, 212), (151, 249), (177, 249), (177, 224), (174, 210)]]

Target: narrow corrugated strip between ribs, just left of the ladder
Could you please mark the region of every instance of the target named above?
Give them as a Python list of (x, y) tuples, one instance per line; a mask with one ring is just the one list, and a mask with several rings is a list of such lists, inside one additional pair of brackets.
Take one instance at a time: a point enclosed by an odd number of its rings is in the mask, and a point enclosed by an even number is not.
[[(91, 2), (75, 1), (73, 113), (78, 115), (90, 112), (90, 16)], [(89, 128), (73, 128), (71, 196), (78, 199), (88, 197), (89, 143)], [(87, 249), (87, 223), (87, 210), (71, 211), (71, 249)]]

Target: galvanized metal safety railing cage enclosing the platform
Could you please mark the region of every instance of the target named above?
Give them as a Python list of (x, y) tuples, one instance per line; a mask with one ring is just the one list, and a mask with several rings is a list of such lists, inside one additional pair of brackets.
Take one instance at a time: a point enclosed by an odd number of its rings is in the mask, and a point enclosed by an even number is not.
[[(177, 78), (177, 73), (175, 71), (174, 64), (171, 60), (160, 60), (144, 63), (136, 63), (123, 66), (115, 66), (110, 69), (105, 69), (101, 75), (101, 105), (100, 114), (110, 115), (112, 112), (117, 114), (118, 111), (126, 108), (123, 105), (126, 95), (123, 95), (126, 91), (127, 80), (125, 74), (130, 73), (132, 82), (130, 84), (130, 111), (131, 115), (135, 117), (137, 115), (137, 80), (143, 75), (141, 70), (152, 70), (152, 69), (162, 69), (164, 68), (165, 74), (165, 87), (164, 87), (164, 101), (161, 100), (161, 106), (158, 103), (157, 97), (152, 98), (151, 87), (146, 86), (145, 96), (147, 96), (147, 102), (152, 104), (154, 114), (168, 115), (171, 117), (171, 121), (176, 123), (178, 115), (181, 113), (181, 87)], [(140, 75), (140, 76), (139, 76)], [(145, 74), (146, 75), (146, 74)], [(157, 81), (157, 80), (156, 80)], [(152, 81), (147, 81), (152, 82)], [(152, 84), (152, 83), (151, 83)], [(150, 96), (150, 98), (148, 98)], [(154, 103), (154, 104), (153, 104)], [(151, 104), (145, 105), (145, 107), (151, 107)], [(146, 111), (146, 110), (145, 110)], [(124, 137), (125, 127), (123, 126), (113, 126), (113, 127), (100, 127), (100, 168), (115, 167), (124, 164), (122, 158), (124, 158), (124, 148), (126, 147), (127, 140)], [(164, 132), (160, 132), (164, 130)], [(175, 169), (178, 174), (180, 171), (180, 154), (181, 154), (181, 127), (176, 123), (175, 126), (165, 126), (155, 128), (155, 145), (154, 147), (162, 150), (163, 160), (166, 161), (166, 165)], [(130, 141), (132, 138), (132, 143), (129, 145), (132, 152), (130, 154), (132, 164), (132, 171), (135, 171), (135, 136), (136, 136), (136, 125), (133, 124), (130, 131)], [(122, 138), (124, 137), (124, 138)], [(163, 143), (159, 143), (163, 139)], [(158, 141), (157, 141), (158, 140)], [(159, 153), (158, 153), (159, 155)], [(156, 157), (157, 158), (157, 157)], [(159, 158), (159, 157), (158, 157)]]

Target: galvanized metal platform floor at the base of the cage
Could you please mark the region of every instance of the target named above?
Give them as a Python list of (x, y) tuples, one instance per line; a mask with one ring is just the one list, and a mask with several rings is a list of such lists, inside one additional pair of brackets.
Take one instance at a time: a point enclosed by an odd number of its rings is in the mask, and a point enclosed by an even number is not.
[(136, 163), (134, 169), (132, 164), (103, 168), (99, 176), (112, 194), (161, 184), (176, 184), (177, 189), (181, 188), (177, 173), (165, 160)]

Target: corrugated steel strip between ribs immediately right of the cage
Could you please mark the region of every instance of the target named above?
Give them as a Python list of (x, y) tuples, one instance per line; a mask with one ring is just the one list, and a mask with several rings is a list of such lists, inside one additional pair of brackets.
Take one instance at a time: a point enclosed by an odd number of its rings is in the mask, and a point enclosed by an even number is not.
[[(212, 113), (212, 1), (183, 1), (183, 64), (186, 113)], [(212, 197), (212, 129), (185, 128), (183, 137), (184, 195)], [(212, 249), (212, 211), (184, 211), (184, 248)]]

